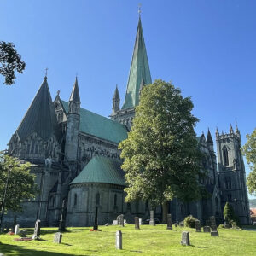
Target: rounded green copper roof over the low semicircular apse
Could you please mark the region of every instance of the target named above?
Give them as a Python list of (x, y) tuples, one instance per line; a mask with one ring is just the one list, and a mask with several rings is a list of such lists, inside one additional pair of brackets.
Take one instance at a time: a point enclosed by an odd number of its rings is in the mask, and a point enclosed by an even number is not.
[(124, 172), (120, 166), (121, 163), (117, 160), (104, 156), (95, 156), (70, 184), (108, 183), (125, 186)]

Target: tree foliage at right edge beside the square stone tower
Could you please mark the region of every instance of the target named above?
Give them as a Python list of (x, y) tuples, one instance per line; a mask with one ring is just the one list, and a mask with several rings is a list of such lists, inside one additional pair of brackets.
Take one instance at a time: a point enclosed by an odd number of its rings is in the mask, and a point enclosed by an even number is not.
[(256, 129), (252, 134), (247, 134), (247, 143), (241, 148), (251, 169), (247, 177), (247, 187), (251, 195), (256, 195)]

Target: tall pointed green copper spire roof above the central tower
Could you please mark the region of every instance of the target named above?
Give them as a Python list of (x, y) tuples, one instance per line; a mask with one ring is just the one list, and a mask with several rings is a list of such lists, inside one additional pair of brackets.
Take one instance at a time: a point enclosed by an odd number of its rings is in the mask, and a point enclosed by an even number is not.
[(126, 89), (125, 103), (122, 109), (133, 108), (139, 102), (140, 84), (152, 84), (146, 46), (143, 38), (141, 18), (137, 25), (137, 35), (131, 60), (130, 74)]

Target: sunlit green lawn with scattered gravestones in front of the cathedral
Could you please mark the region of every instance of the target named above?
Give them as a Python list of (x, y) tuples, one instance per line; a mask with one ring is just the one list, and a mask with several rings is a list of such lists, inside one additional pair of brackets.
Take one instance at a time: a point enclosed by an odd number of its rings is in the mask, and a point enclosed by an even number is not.
[[(43, 241), (14, 241), (15, 237), (0, 235), (0, 253), (4, 255), (256, 255), (256, 231), (219, 229), (219, 237), (196, 233), (194, 229), (166, 225), (125, 227), (101, 226), (102, 232), (90, 228), (68, 228), (62, 243), (53, 243), (56, 228), (41, 229)], [(122, 230), (123, 250), (115, 249), (115, 232)], [(183, 230), (190, 232), (191, 246), (180, 245)], [(32, 234), (32, 229), (29, 230)]]

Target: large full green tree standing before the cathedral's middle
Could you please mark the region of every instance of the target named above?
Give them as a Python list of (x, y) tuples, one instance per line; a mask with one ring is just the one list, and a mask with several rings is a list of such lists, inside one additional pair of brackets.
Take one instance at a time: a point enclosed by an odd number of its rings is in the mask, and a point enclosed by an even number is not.
[(193, 103), (181, 90), (162, 80), (144, 86), (128, 138), (119, 143), (128, 183), (126, 201), (143, 199), (162, 204), (200, 197), (200, 152), (191, 113)]

